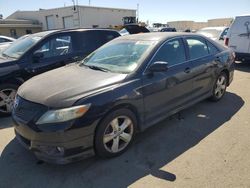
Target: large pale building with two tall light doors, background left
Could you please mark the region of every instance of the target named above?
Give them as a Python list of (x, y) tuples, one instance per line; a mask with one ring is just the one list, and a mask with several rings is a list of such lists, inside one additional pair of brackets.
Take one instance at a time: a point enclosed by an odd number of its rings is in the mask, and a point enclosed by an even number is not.
[(108, 28), (123, 25), (123, 17), (136, 17), (136, 10), (92, 6), (69, 6), (38, 11), (16, 11), (7, 19), (38, 21), (42, 30)]

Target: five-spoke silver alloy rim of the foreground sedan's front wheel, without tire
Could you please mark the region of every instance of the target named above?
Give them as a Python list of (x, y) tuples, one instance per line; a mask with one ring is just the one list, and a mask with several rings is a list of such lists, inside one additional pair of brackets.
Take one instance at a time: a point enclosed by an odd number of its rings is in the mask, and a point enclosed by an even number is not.
[(132, 120), (127, 116), (114, 118), (104, 131), (105, 149), (110, 153), (118, 153), (125, 149), (132, 139), (133, 126)]

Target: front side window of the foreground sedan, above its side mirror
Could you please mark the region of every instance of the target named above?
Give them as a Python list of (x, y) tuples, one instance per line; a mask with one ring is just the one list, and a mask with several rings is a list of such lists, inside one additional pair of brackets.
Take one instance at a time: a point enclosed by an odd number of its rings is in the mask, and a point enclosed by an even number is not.
[(168, 62), (169, 66), (173, 66), (186, 61), (185, 48), (180, 39), (174, 39), (165, 43), (154, 57), (153, 62)]

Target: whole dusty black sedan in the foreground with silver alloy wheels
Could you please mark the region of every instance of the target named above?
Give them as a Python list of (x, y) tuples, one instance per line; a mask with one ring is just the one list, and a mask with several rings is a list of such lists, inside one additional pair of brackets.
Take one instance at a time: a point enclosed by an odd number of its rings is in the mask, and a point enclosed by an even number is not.
[(127, 35), (82, 62), (24, 83), (13, 109), (17, 139), (52, 163), (114, 157), (135, 133), (201, 100), (220, 100), (234, 54), (197, 34)]

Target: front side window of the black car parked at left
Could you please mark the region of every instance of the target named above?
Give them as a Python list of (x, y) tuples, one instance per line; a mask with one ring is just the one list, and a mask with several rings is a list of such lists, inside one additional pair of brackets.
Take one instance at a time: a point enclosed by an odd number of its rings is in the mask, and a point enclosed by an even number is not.
[(56, 57), (72, 53), (71, 36), (58, 36), (50, 39), (36, 52), (43, 54), (43, 58)]

